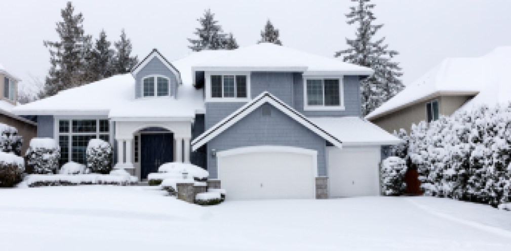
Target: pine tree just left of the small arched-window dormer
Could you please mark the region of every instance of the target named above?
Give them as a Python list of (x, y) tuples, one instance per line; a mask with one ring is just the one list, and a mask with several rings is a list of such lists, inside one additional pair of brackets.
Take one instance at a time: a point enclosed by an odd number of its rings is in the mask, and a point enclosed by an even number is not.
[(113, 74), (124, 74), (131, 71), (138, 63), (138, 57), (135, 55), (131, 57), (131, 40), (126, 38), (124, 29), (121, 32), (121, 40), (115, 42), (115, 53), (113, 57)]

